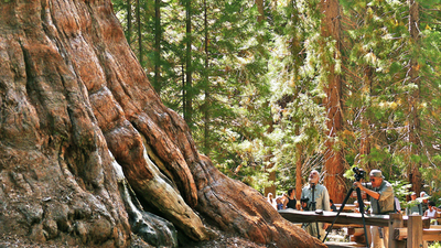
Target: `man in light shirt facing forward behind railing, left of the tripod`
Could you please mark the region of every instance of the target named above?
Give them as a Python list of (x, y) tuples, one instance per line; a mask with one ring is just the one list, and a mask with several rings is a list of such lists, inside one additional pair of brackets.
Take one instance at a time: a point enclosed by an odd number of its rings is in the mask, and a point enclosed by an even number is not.
[[(318, 171), (313, 170), (308, 177), (309, 184), (306, 184), (302, 190), (301, 198), (309, 198), (308, 209), (313, 211), (313, 203), (315, 202), (315, 211), (331, 211), (330, 208), (330, 194), (327, 193), (327, 188), (324, 185), (319, 184), (320, 174)], [(314, 198), (312, 198), (312, 193), (314, 193)], [(325, 230), (327, 228), (327, 223), (310, 223), (305, 230), (311, 236), (314, 236), (319, 239), (325, 236)], [(318, 231), (319, 228), (319, 231)]]

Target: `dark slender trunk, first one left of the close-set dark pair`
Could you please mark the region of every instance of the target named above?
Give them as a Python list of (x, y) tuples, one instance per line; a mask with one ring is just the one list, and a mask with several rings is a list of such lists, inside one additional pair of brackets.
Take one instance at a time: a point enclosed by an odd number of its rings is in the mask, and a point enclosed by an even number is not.
[(154, 0), (154, 90), (161, 96), (161, 0)]

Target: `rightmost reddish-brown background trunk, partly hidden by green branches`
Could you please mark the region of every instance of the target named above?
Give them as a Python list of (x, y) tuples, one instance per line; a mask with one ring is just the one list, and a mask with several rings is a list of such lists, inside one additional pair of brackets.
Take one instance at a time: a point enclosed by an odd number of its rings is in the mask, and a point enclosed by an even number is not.
[[(412, 46), (417, 48), (419, 46), (419, 4), (415, 0), (409, 0), (409, 33), (412, 40)], [(421, 162), (415, 161), (412, 155), (421, 155), (421, 144), (420, 144), (420, 118), (418, 115), (418, 106), (420, 101), (420, 77), (419, 77), (419, 64), (416, 57), (410, 58), (409, 66), (409, 83), (417, 85), (417, 89), (411, 89), (408, 96), (409, 103), (409, 119), (408, 119), (408, 139), (409, 139), (409, 181), (412, 184), (413, 192), (421, 192), (421, 173), (419, 169), (421, 168)]]

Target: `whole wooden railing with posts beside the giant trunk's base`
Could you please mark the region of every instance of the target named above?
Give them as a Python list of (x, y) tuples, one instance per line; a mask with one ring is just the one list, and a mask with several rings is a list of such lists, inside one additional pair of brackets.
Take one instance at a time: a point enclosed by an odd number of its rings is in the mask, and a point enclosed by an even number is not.
[[(338, 226), (363, 225), (359, 213), (342, 212), (337, 218), (336, 212), (300, 212), (293, 209), (279, 211), (280, 215), (292, 223), (333, 223)], [(430, 219), (420, 215), (404, 216), (401, 214), (365, 215), (366, 226), (389, 227), (388, 248), (423, 248), (427, 241), (441, 241), (441, 227), (430, 226)]]

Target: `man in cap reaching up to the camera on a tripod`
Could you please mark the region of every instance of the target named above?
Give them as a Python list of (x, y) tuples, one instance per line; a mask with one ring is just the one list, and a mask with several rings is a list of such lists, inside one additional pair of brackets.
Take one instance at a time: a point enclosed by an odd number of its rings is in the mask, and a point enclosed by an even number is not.
[[(392, 185), (384, 180), (380, 170), (372, 170), (369, 173), (372, 187), (369, 190), (361, 182), (354, 182), (354, 186), (366, 192), (370, 196), (372, 213), (376, 215), (387, 215), (394, 213), (394, 188)], [(389, 247), (389, 228), (370, 226), (372, 245), (373, 248)]]

